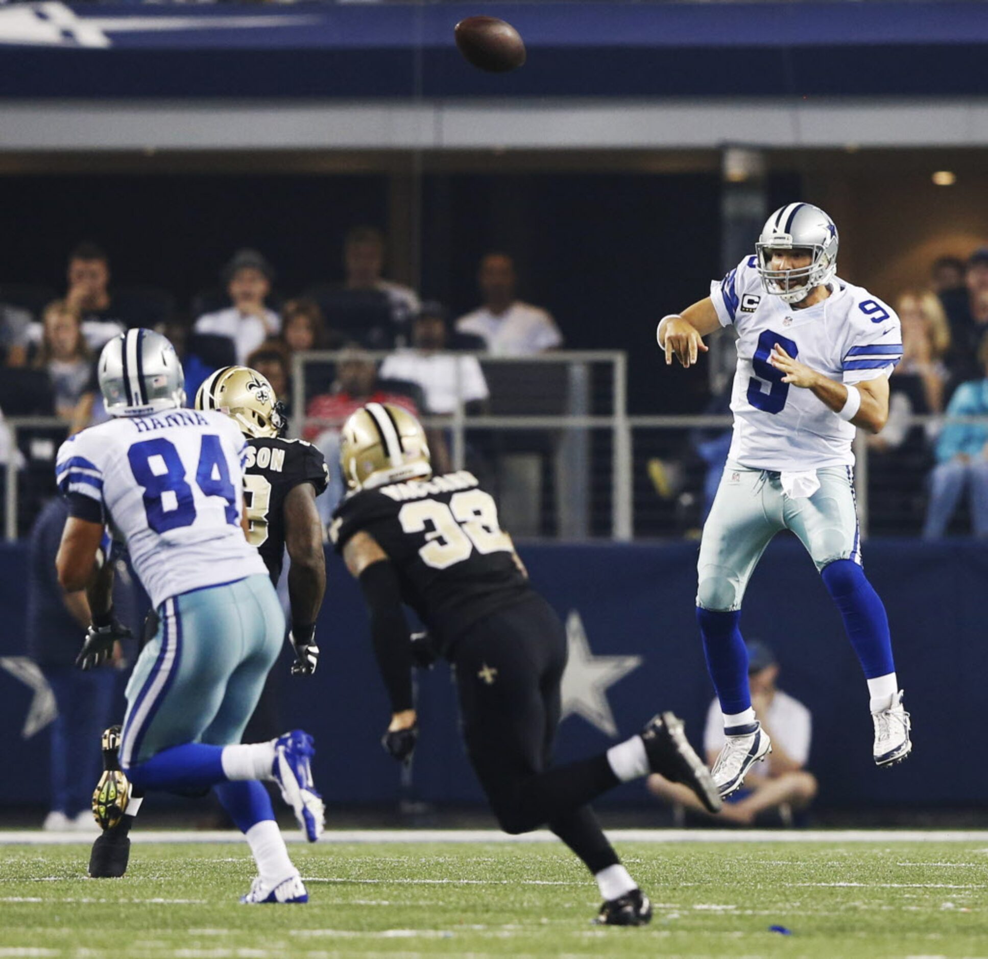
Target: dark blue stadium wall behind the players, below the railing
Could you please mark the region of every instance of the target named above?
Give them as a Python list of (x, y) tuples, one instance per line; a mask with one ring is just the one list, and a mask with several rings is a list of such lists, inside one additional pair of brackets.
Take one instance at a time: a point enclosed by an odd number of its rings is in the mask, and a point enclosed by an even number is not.
[[(633, 732), (657, 710), (671, 708), (687, 719), (699, 746), (711, 692), (694, 621), (696, 546), (533, 545), (523, 553), (535, 583), (559, 613), (579, 612), (595, 656), (641, 658), (607, 689), (617, 728)], [(0, 657), (24, 654), (25, 560), (23, 545), (0, 548), (6, 627)], [(888, 605), (899, 677), (915, 721), (913, 758), (892, 770), (871, 764), (864, 680), (840, 618), (797, 542), (781, 538), (772, 545), (745, 603), (747, 634), (776, 648), (782, 685), (812, 710), (810, 765), (821, 779), (819, 802), (983, 805), (988, 767), (976, 759), (988, 679), (988, 545), (870, 541), (865, 562)], [(288, 662), (279, 665), (281, 721), (315, 735), (317, 782), (331, 802), (388, 802), (398, 795), (398, 772), (379, 746), (388, 709), (363, 603), (335, 557), (329, 575), (318, 633), (324, 665), (311, 681), (289, 678)], [(0, 805), (23, 803), (24, 783), (46, 781), (47, 732), (27, 741), (20, 737), (31, 699), (26, 685), (0, 670), (3, 766), (17, 770), (0, 776)], [(416, 794), (440, 802), (480, 801), (459, 742), (445, 665), (422, 678), (420, 710)], [(560, 727), (557, 755), (576, 758), (613, 742), (582, 716), (571, 715)], [(636, 784), (606, 802), (627, 806), (646, 799)]]

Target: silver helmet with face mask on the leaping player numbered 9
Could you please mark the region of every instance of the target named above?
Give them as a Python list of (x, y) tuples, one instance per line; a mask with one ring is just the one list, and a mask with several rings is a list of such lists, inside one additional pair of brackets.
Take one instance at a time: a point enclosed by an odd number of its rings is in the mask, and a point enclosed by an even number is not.
[[(755, 244), (762, 286), (786, 303), (798, 303), (834, 276), (839, 245), (837, 226), (819, 206), (788, 203), (780, 207), (766, 220)], [(805, 250), (812, 259), (808, 267), (798, 270), (773, 270), (773, 250)]]

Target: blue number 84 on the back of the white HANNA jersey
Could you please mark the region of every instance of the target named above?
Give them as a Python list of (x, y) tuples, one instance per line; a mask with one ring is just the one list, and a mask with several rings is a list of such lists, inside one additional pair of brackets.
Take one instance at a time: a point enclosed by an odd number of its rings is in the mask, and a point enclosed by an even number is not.
[[(175, 444), (164, 437), (135, 442), (127, 450), (133, 478), (144, 489), (147, 524), (155, 532), (167, 532), (196, 521), (196, 498), (186, 481), (185, 464)], [(233, 525), (237, 516), (237, 491), (230, 482), (230, 471), (219, 437), (207, 433), (196, 467), (196, 484), (206, 496), (226, 501), (226, 521)]]

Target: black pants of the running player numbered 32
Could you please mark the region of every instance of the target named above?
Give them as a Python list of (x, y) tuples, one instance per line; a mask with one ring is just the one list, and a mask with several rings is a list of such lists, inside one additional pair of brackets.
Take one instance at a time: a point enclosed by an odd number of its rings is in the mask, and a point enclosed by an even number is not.
[(617, 785), (606, 755), (549, 766), (566, 631), (541, 597), (470, 626), (453, 649), (463, 738), (506, 833), (547, 826), (591, 872), (615, 865), (592, 799)]

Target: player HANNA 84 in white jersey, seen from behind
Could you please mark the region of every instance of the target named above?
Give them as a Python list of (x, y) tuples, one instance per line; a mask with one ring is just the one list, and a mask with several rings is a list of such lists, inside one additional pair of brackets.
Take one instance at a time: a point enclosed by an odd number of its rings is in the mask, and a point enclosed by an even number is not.
[(111, 604), (105, 525), (130, 553), (155, 629), (127, 683), (119, 756), (105, 736), (106, 771), (93, 807), (105, 832), (93, 875), (123, 874), (104, 867), (125, 867), (127, 832), (145, 791), (212, 788), (258, 864), (244, 902), (305, 902), (261, 780), (279, 783), (316, 839), (323, 809), (312, 785), (311, 737), (295, 730), (240, 745), (285, 638), (281, 603), (245, 535), (245, 440), (220, 412), (181, 409), (182, 366), (157, 333), (128, 330), (111, 340), (97, 371), (114, 419), (63, 443), (55, 467), (69, 505), (58, 578), (67, 591), (86, 590), (93, 616), (77, 665), (100, 666), (128, 635)]

